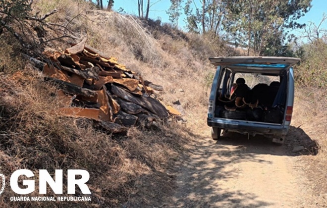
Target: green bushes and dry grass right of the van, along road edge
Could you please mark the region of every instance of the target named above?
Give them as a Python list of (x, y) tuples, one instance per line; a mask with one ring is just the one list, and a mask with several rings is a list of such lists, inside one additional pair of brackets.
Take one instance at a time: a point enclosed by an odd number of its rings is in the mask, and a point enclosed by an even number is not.
[(327, 37), (303, 46), (302, 62), (295, 67), (296, 92), (295, 125), (301, 125), (318, 146), (317, 156), (305, 158), (313, 193), (314, 206), (327, 205)]

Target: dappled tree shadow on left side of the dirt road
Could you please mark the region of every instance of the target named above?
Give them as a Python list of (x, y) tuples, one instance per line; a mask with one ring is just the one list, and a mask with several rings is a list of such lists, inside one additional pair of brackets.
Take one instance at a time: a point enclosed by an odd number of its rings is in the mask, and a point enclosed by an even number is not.
[(166, 207), (209, 208), (209, 207), (268, 207), (273, 204), (258, 199), (255, 194), (221, 185), (237, 177), (239, 170), (234, 164), (242, 161), (270, 164), (270, 161), (258, 158), (255, 154), (244, 154), (244, 146), (224, 145), (227, 138), (199, 142), (191, 152), (177, 164), (177, 195), (173, 203)]

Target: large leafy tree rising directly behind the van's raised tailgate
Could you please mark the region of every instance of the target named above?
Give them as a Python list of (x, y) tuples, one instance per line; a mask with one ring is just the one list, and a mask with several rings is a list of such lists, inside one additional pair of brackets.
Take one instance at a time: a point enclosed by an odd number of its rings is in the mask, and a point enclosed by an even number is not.
[(270, 48), (274, 51), (281, 47), (287, 39), (287, 29), (304, 26), (296, 20), (309, 11), (310, 3), (311, 0), (226, 0), (224, 29), (236, 45), (247, 46), (248, 54), (252, 50), (261, 55)]

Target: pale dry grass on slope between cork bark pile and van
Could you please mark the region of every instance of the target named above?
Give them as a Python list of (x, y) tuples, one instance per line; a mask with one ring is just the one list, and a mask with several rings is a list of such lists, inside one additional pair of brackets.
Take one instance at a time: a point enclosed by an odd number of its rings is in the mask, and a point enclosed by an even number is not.
[[(84, 8), (84, 12), (71, 21), (71, 31), (87, 36), (89, 45), (108, 56), (118, 57), (119, 62), (145, 79), (163, 85), (164, 92), (158, 97), (167, 104), (179, 100), (191, 129), (207, 134), (207, 95), (215, 72), (208, 57), (233, 54), (233, 49), (223, 47), (218, 40), (213, 42), (167, 25), (156, 25), (158, 22), (150, 25), (133, 16), (91, 10), (78, 1), (71, 2), (69, 8), (73, 5)], [(65, 16), (68, 21), (76, 15), (67, 10), (61, 9), (53, 19), (64, 21)]]

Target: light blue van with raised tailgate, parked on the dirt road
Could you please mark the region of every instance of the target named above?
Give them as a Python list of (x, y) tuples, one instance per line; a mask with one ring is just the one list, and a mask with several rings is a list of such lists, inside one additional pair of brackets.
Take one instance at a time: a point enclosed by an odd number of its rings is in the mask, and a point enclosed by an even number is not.
[(261, 134), (283, 144), (294, 102), (293, 57), (211, 57), (217, 66), (208, 125), (218, 140), (221, 131)]

